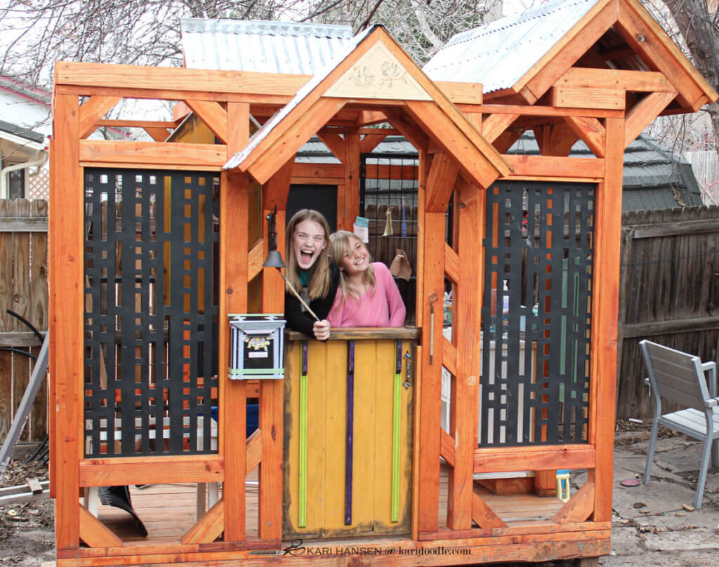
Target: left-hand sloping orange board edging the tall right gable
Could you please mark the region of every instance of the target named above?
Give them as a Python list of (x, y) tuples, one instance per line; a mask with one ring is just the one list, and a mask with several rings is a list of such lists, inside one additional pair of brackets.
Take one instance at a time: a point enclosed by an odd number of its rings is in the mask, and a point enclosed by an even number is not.
[(616, 22), (618, 1), (621, 0), (600, 0), (592, 6), (544, 57), (532, 65), (513, 90), (521, 93), (530, 104), (541, 98)]

